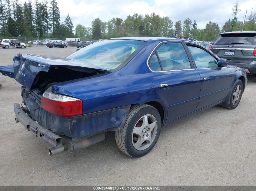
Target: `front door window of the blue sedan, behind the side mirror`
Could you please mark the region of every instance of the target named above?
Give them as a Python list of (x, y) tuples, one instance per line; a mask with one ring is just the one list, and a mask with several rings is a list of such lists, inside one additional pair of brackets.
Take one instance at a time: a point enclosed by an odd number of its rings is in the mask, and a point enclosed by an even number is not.
[(205, 50), (188, 46), (197, 68), (218, 68), (218, 61)]

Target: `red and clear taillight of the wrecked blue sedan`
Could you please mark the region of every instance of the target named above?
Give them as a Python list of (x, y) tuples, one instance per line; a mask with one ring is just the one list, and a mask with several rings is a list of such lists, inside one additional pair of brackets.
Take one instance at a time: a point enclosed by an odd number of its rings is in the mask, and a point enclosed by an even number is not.
[(45, 92), (41, 100), (41, 107), (58, 116), (75, 116), (82, 114), (82, 100)]

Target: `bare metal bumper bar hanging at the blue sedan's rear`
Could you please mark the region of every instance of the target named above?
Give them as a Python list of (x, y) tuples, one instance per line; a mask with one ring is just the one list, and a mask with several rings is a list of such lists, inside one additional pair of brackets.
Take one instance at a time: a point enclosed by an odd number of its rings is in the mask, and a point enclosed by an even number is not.
[(38, 123), (33, 121), (27, 114), (22, 110), (20, 104), (14, 103), (14, 113), (16, 122), (20, 122), (28, 131), (30, 131), (36, 137), (41, 138), (44, 142), (58, 148), (62, 145), (62, 138), (55, 135), (48, 129), (43, 128)]

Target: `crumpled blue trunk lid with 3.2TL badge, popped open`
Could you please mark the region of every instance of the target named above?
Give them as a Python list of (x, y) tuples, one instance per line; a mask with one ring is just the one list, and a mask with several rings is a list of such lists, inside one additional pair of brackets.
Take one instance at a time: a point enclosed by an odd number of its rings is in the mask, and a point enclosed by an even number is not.
[(62, 82), (95, 75), (97, 70), (107, 70), (93, 64), (55, 56), (18, 54), (13, 60), (15, 80), (28, 89), (31, 89), (36, 83), (45, 83), (47, 85), (46, 83)]

